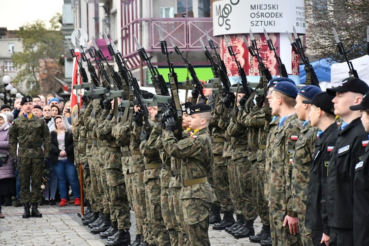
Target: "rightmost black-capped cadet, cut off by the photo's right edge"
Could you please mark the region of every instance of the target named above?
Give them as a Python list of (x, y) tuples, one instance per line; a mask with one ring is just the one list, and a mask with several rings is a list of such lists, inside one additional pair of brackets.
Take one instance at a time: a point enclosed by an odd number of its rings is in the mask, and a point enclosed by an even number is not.
[[(351, 110), (360, 110), (361, 123), (369, 132), (369, 92), (359, 105), (351, 106)], [(368, 137), (368, 136), (366, 136)], [(354, 175), (354, 245), (369, 245), (369, 145), (368, 138), (362, 141), (365, 146), (364, 157), (355, 165)]]

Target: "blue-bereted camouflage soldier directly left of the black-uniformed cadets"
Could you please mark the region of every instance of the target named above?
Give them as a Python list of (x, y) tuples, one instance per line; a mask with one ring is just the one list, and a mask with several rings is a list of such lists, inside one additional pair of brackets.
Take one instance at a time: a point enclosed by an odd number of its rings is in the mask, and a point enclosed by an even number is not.
[[(305, 228), (307, 186), (309, 183), (310, 163), (315, 150), (317, 127), (311, 127), (309, 121), (310, 105), (303, 100), (312, 99), (316, 94), (322, 92), (317, 86), (304, 86), (296, 97), (295, 110), (300, 121), (304, 121), (299, 138), (296, 142), (295, 154), (292, 159), (291, 178), (291, 205), (288, 205), (288, 213), (298, 217), (299, 242), (304, 246), (312, 246), (311, 230)], [(289, 215), (287, 215), (289, 216)], [(287, 220), (287, 218), (285, 218)]]

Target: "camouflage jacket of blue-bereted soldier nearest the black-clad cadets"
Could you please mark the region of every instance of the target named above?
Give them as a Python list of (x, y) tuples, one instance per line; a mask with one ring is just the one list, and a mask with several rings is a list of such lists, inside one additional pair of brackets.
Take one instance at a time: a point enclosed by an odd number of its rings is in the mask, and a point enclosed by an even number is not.
[[(292, 162), (292, 211), (306, 213), (307, 188), (310, 177), (310, 164), (315, 151), (316, 133), (318, 127), (311, 127), (310, 121), (301, 129), (296, 142), (295, 154)], [(290, 207), (290, 206), (288, 206)], [(297, 216), (297, 214), (295, 214)]]

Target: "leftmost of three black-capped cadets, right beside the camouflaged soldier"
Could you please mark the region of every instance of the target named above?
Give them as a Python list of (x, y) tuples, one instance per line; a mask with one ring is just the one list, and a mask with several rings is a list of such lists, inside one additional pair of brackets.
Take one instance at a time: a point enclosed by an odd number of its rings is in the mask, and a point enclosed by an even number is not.
[[(333, 108), (333, 95), (321, 92), (312, 100), (303, 103), (310, 106), (311, 126), (319, 127), (315, 151), (312, 154), (310, 165), (310, 179), (307, 189), (305, 226), (311, 229), (311, 236), (315, 246), (329, 243), (329, 226), (327, 216), (322, 217), (322, 210), (327, 214), (325, 205), (325, 189), (327, 183), (328, 167), (333, 147), (338, 137), (338, 125), (335, 121)], [(323, 235), (323, 233), (325, 235)]]

